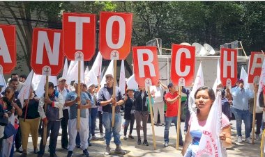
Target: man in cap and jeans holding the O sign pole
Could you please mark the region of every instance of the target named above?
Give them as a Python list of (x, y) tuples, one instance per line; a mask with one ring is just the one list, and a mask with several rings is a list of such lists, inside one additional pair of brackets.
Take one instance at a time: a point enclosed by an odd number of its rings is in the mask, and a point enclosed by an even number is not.
[[(112, 74), (106, 74), (106, 84), (103, 88), (100, 88), (98, 92), (98, 104), (103, 106), (103, 125), (105, 127), (105, 140), (107, 147), (105, 149), (105, 155), (110, 154), (109, 143), (112, 140), (112, 133), (114, 136), (114, 143), (116, 144), (115, 153), (117, 154), (126, 154), (126, 151), (121, 149), (121, 140), (120, 140), (120, 131), (121, 131), (121, 113), (120, 106), (123, 104), (123, 99), (121, 97), (121, 90), (116, 87), (116, 97), (112, 97), (113, 94), (113, 84), (114, 78)], [(112, 106), (115, 106), (115, 123), (112, 127)]]

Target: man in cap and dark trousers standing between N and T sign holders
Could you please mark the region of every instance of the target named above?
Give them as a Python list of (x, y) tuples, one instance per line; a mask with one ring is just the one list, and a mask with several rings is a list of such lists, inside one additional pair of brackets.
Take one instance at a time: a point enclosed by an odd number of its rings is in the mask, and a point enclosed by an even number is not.
[[(58, 86), (55, 90), (60, 92), (63, 95), (63, 101), (66, 101), (66, 95), (69, 92), (66, 86), (66, 79), (60, 77), (58, 79)], [(67, 133), (67, 126), (68, 126), (68, 119), (69, 119), (69, 107), (66, 107), (65, 104), (63, 105), (63, 118), (61, 119), (61, 147), (67, 150), (68, 146), (68, 133)]]

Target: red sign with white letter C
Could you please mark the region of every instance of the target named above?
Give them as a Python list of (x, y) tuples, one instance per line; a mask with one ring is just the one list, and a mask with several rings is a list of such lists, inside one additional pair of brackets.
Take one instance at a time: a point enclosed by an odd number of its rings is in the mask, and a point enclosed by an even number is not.
[(191, 85), (195, 71), (195, 47), (172, 44), (171, 80), (174, 85)]

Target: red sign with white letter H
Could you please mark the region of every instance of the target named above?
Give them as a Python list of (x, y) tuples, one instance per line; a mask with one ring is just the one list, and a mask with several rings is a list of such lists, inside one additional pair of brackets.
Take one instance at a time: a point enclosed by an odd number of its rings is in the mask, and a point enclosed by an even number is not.
[(220, 65), (222, 85), (234, 85), (237, 80), (237, 50), (221, 48)]

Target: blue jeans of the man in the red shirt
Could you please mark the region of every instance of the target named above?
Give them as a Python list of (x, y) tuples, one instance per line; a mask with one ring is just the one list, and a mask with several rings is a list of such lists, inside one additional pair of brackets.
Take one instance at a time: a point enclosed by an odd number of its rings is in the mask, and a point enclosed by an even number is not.
[[(166, 117), (165, 122), (165, 131), (164, 131), (164, 140), (165, 142), (169, 142), (168, 134), (169, 134), (169, 128), (172, 122), (174, 122), (175, 127), (177, 126), (178, 117)], [(181, 135), (181, 129), (179, 129), (179, 143), (183, 142), (182, 135)]]

